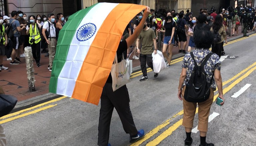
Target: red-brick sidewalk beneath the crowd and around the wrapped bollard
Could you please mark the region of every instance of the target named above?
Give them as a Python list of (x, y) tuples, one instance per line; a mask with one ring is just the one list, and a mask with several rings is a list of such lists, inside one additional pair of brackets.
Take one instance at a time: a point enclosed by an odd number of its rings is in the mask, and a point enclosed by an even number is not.
[[(249, 32), (248, 35), (253, 34), (255, 32)], [(228, 37), (228, 41), (232, 41), (235, 39), (239, 39), (243, 37), (241, 33), (241, 27), (239, 27), (238, 36)], [(189, 37), (187, 37), (187, 41), (189, 42)], [(188, 46), (187, 42), (187, 46)], [(186, 47), (186, 51), (187, 51)], [(131, 49), (130, 49), (131, 50)], [(167, 51), (168, 52), (168, 51)], [(41, 54), (41, 67), (37, 67), (34, 62), (34, 74), (35, 74), (35, 89), (34, 92), (28, 91), (28, 79), (26, 74), (26, 64), (25, 58), (20, 58), (21, 63), (19, 65), (9, 65), (10, 61), (6, 61), (6, 57), (4, 57), (3, 65), (8, 67), (8, 70), (2, 70), (0, 72), (0, 85), (3, 87), (5, 94), (15, 96), (18, 101), (30, 99), (32, 97), (44, 97), (51, 95), (49, 94), (49, 81), (51, 77), (51, 72), (47, 69), (49, 58), (44, 57), (45, 53)], [(173, 48), (173, 60), (179, 57), (184, 56), (183, 53), (178, 53), (178, 47)], [(133, 54), (130, 56), (132, 59)], [(140, 62), (139, 60), (133, 60), (133, 71), (140, 70)], [(37, 98), (36, 98), (37, 99)]]

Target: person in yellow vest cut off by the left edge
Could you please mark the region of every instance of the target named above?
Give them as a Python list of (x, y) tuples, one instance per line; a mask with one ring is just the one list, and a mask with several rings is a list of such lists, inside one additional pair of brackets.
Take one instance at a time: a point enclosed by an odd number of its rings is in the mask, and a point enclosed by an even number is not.
[(0, 72), (1, 70), (8, 70), (8, 68), (3, 66), (3, 57), (5, 56), (5, 46), (8, 44), (7, 35), (5, 33), (5, 27), (3, 25), (4, 19), (0, 15)]

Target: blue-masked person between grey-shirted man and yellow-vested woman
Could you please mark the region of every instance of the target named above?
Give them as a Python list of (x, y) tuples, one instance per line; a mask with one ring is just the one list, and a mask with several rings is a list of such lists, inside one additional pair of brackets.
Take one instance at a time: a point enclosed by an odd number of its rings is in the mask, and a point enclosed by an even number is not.
[[(18, 19), (17, 19), (19, 22), (20, 22), (20, 27), (23, 27), (23, 26), (25, 26), (25, 28), (26, 28), (26, 26), (27, 26), (27, 22), (26, 22), (26, 20), (23, 18), (23, 12), (22, 11), (18, 11)], [(21, 43), (22, 43), (22, 49), (20, 50), (20, 57), (25, 57), (25, 54), (24, 54), (24, 49), (25, 49), (25, 47), (24, 47), (24, 44), (25, 44), (25, 38), (26, 38), (26, 29), (23, 29), (21, 32), (21, 35), (20, 35), (20, 40), (21, 40)]]

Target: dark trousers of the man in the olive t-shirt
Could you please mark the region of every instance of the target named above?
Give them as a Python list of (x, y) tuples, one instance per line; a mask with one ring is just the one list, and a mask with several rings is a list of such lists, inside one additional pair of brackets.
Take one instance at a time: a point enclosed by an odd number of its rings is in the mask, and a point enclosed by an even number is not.
[(152, 60), (152, 55), (151, 54), (140, 54), (140, 67), (141, 67), (141, 71), (143, 73), (143, 76), (147, 76), (147, 67), (146, 67), (146, 62), (147, 65), (152, 69), (153, 69), (153, 60)]

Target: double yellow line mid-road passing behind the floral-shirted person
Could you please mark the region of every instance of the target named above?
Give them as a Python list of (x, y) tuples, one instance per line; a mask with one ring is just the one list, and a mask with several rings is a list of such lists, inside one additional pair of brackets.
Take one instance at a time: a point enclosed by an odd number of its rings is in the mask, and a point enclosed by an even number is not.
[[(249, 70), (249, 71), (248, 71)], [(230, 78), (227, 81), (223, 82), (223, 86), (230, 83), (231, 81), (235, 80), (234, 82), (232, 82), (230, 85), (228, 85), (227, 87), (225, 87), (223, 89), (223, 94), (226, 94), (229, 90), (231, 90), (236, 84), (238, 84), (240, 81), (242, 81), (244, 78), (246, 78), (247, 76), (249, 76), (253, 71), (256, 70), (256, 62), (253, 63), (252, 65), (250, 65), (249, 67), (247, 67), (246, 69), (244, 69), (243, 71), (241, 71), (240, 73), (236, 74), (235, 76), (233, 76), (232, 78)], [(216, 90), (217, 91), (217, 90)], [(216, 92), (215, 91), (215, 92)], [(216, 94), (214, 96), (214, 100), (218, 97), (218, 94)], [(170, 124), (170, 120), (177, 117), (178, 115), (183, 115), (184, 111), (180, 111), (178, 112), (176, 115), (174, 115), (173, 117), (169, 118), (168, 120), (166, 120), (164, 123), (162, 123), (161, 125), (158, 125), (156, 128), (154, 128), (153, 130), (151, 130), (149, 133), (147, 133), (141, 140), (137, 141), (136, 143), (131, 144), (130, 146), (139, 146), (140, 144), (142, 144), (143, 142), (145, 142), (146, 140), (148, 140), (150, 137), (152, 137), (153, 135), (157, 134), (161, 129), (163, 129), (164, 127), (168, 126)], [(196, 109), (196, 113), (198, 113), (198, 107)], [(182, 120), (180, 119), (178, 122), (176, 122), (175, 124), (169, 126), (169, 128), (167, 130), (165, 130), (163, 133), (161, 133), (159, 136), (157, 136), (155, 139), (153, 139), (152, 141), (150, 141), (149, 143), (147, 143), (147, 146), (155, 146), (157, 144), (159, 144), (161, 141), (163, 141), (166, 137), (168, 137), (169, 135), (172, 134), (173, 131), (175, 131), (179, 126), (182, 125)]]

